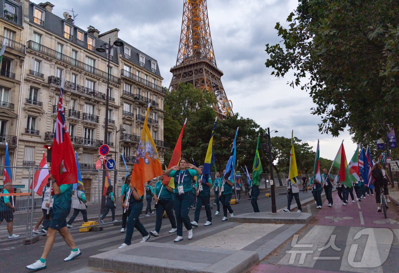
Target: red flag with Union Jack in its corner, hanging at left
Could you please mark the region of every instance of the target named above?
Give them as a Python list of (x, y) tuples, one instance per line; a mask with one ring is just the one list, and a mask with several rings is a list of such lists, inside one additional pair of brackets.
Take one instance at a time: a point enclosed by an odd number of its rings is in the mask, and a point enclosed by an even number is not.
[(71, 137), (67, 130), (65, 122), (65, 113), (63, 105), (64, 81), (61, 80), (61, 92), (59, 93), (58, 113), (54, 128), (54, 141), (51, 162), (51, 174), (58, 185), (74, 184), (77, 181), (77, 167), (74, 157)]

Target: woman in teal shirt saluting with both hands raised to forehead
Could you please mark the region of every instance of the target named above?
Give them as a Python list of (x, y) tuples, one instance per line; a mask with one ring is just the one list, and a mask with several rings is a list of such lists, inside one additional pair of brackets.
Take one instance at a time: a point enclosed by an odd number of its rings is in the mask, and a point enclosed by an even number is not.
[(177, 237), (174, 242), (183, 240), (183, 223), (188, 230), (188, 239), (193, 238), (193, 228), (188, 217), (190, 204), (192, 200), (192, 181), (197, 175), (201, 175), (202, 171), (196, 166), (188, 163), (187, 159), (180, 159), (179, 166), (174, 166), (166, 170), (165, 175), (174, 177), (175, 188), (173, 190), (174, 199), (173, 206), (176, 214)]

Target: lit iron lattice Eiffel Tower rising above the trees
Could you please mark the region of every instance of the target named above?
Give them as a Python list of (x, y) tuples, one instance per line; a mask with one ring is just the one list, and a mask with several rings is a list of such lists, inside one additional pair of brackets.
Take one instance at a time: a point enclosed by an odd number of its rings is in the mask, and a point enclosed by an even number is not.
[(188, 82), (203, 91), (215, 94), (213, 108), (219, 118), (233, 115), (233, 104), (227, 99), (220, 80), (223, 71), (217, 68), (213, 54), (206, 0), (184, 0), (182, 33), (170, 90), (179, 82)]

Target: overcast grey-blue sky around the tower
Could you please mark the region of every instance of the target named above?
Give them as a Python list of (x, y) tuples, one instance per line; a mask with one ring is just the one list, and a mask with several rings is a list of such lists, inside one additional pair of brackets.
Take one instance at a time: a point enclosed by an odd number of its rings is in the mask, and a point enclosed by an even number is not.
[[(36, 4), (43, 2), (34, 0)], [(62, 17), (74, 10), (75, 25), (94, 26), (100, 33), (120, 29), (119, 37), (158, 61), (162, 85), (169, 87), (176, 65), (182, 24), (183, 0), (51, 0), (53, 13)], [(308, 93), (290, 88), (289, 78), (270, 75), (265, 61), (265, 44), (281, 39), (276, 22), (286, 25), (295, 0), (208, 0), (208, 16), (217, 67), (233, 111), (254, 119), (263, 128), (278, 130), (276, 136), (294, 136), (316, 149), (320, 156), (334, 159), (342, 139), (348, 162), (356, 145), (348, 132), (338, 138), (318, 132), (320, 117), (312, 115), (314, 106)], [(65, 9), (65, 10), (64, 10)], [(69, 12), (72, 15), (72, 12)], [(272, 136), (274, 135), (272, 134)], [(324, 166), (322, 166), (324, 167)]]

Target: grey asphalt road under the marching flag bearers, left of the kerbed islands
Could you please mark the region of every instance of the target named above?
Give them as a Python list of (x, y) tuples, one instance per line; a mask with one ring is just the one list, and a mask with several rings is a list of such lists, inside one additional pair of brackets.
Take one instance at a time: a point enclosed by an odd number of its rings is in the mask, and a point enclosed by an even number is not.
[[(276, 204), (277, 209), (284, 208), (287, 205), (287, 197), (285, 193), (286, 189), (276, 190)], [(261, 192), (262, 194), (262, 192)], [(244, 196), (243, 194), (241, 195)], [(310, 191), (302, 193), (300, 192), (300, 199), (306, 199), (312, 197)], [(258, 200), (259, 208), (261, 211), (271, 211), (271, 198), (265, 198), (264, 192), (259, 196)], [(232, 205), (234, 214), (242, 214), (247, 212), (253, 212), (251, 202), (248, 199), (242, 199), (239, 204)], [(230, 228), (233, 223), (229, 221), (222, 222), (223, 212), (215, 216), (216, 206), (213, 205), (212, 209), (212, 225), (203, 226), (206, 222), (205, 210), (201, 210), (199, 219), (199, 227), (194, 229), (194, 236), (192, 240), (187, 239), (187, 233), (183, 227), (184, 240), (177, 244), (189, 244), (195, 240), (199, 240), (206, 236), (220, 232), (223, 229)], [(190, 219), (194, 219), (194, 210), (190, 211)], [(227, 214), (229, 216), (229, 214)], [(117, 218), (120, 220), (120, 218)], [(140, 221), (149, 232), (155, 228), (155, 215), (154, 216), (141, 216)], [(235, 224), (235, 223), (234, 223)], [(88, 257), (102, 253), (103, 251), (109, 251), (115, 249), (123, 243), (125, 234), (120, 233), (120, 226), (113, 226), (113, 224), (103, 225), (104, 230), (101, 232), (82, 232), (78, 230), (71, 230), (71, 234), (75, 240), (75, 244), (81, 249), (82, 255), (73, 261), (64, 262), (63, 259), (69, 255), (70, 249), (67, 247), (61, 236), (57, 234), (53, 249), (47, 257), (47, 269), (41, 272), (72, 272), (77, 269), (81, 269), (88, 266)], [(163, 218), (162, 228), (159, 237), (151, 237), (152, 242), (175, 244), (173, 242), (176, 238), (175, 234), (168, 234), (170, 230), (170, 222), (168, 218)], [(4, 237), (3, 237), (4, 238)], [(140, 233), (134, 230), (132, 237), (132, 244), (140, 242), (142, 239)], [(40, 240), (32, 245), (22, 245), (22, 240), (19, 241), (0, 241), (0, 251), (3, 259), (1, 262), (2, 272), (26, 272), (26, 265), (33, 263), (40, 258), (45, 244), (45, 237), (40, 237)], [(7, 257), (7, 258), (5, 258)]]

